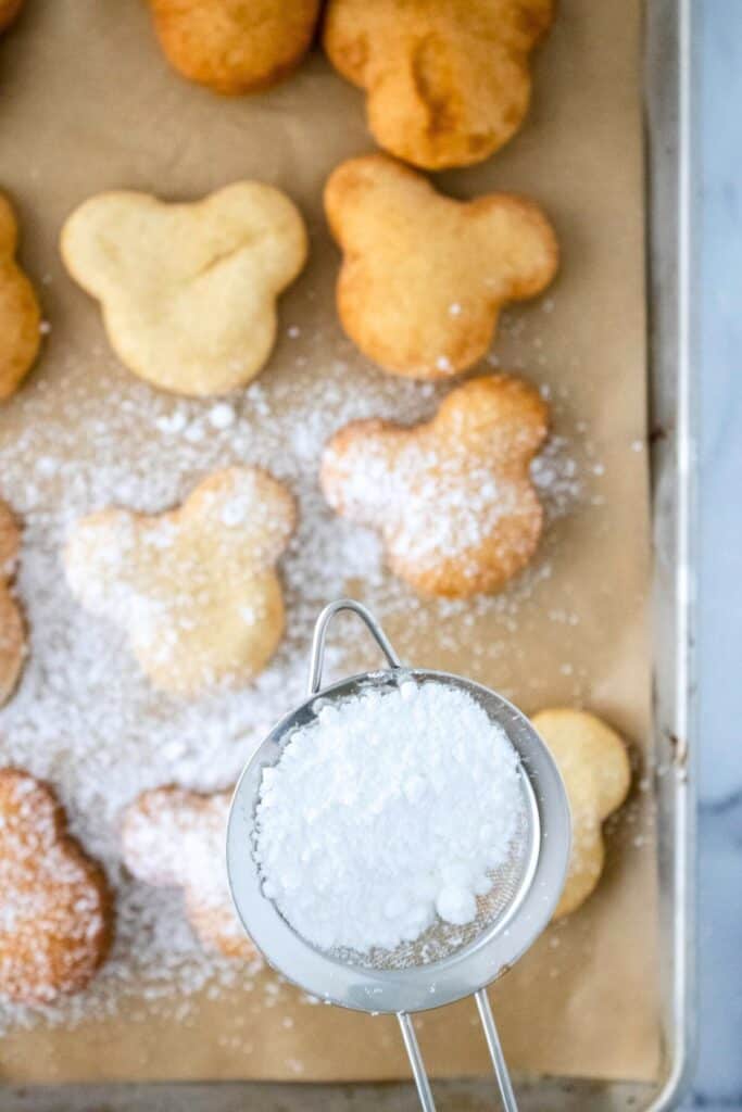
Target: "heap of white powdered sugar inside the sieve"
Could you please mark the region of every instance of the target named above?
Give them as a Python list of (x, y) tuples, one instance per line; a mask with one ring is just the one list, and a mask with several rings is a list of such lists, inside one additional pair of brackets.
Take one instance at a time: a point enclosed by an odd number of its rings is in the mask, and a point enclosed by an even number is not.
[(517, 754), (466, 692), (407, 679), (326, 703), (263, 772), (263, 891), (323, 950), (394, 950), (436, 914), (476, 919), (524, 807)]

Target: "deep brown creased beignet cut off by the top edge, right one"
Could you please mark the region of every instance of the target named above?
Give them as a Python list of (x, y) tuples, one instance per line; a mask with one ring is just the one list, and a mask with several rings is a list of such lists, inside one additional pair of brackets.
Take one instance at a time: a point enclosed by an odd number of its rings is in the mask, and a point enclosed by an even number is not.
[(329, 0), (324, 44), (380, 147), (427, 170), (488, 158), (531, 100), (553, 0)]

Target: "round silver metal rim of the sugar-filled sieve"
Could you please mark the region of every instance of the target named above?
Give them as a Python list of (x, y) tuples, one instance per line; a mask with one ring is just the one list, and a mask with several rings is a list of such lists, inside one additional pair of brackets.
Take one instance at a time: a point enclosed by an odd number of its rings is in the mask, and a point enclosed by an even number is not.
[[(275, 764), (291, 731), (303, 721), (309, 721), (313, 706), (321, 699), (348, 697), (359, 686), (396, 684), (402, 676), (462, 687), (478, 696), (477, 702), (503, 726), (521, 756), (524, 784), (535, 807), (537, 854), (531, 883), (518, 892), (512, 914), (508, 909), (468, 946), (428, 965), (375, 970), (343, 963), (298, 935), (276, 905), (263, 895), (259, 868), (250, 847), (263, 767)], [(227, 826), (227, 873), (243, 926), (268, 963), (286, 980), (320, 1000), (355, 1011), (421, 1012), (477, 992), (532, 945), (547, 925), (561, 895), (570, 836), (570, 812), (560, 773), (546, 745), (521, 711), (491, 688), (463, 676), (395, 666), (360, 673), (323, 687), (274, 726), (235, 788)]]

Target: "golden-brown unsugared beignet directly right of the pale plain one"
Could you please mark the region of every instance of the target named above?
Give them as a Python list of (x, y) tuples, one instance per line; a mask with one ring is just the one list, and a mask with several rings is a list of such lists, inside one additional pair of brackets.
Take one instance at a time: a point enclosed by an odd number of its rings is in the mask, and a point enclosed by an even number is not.
[(556, 237), (532, 201), (452, 200), (384, 155), (343, 162), (325, 210), (343, 251), (340, 324), (390, 374), (466, 370), (486, 355), (502, 306), (541, 294), (556, 272)]

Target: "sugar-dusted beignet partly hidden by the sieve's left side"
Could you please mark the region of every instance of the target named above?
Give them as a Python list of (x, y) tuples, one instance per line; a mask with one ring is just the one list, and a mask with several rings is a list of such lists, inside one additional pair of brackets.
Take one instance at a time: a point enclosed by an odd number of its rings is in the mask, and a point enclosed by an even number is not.
[(231, 792), (201, 795), (174, 786), (144, 792), (123, 814), (121, 845), (138, 880), (182, 888), (188, 922), (206, 950), (249, 961), (257, 952), (227, 883), (230, 800)]

